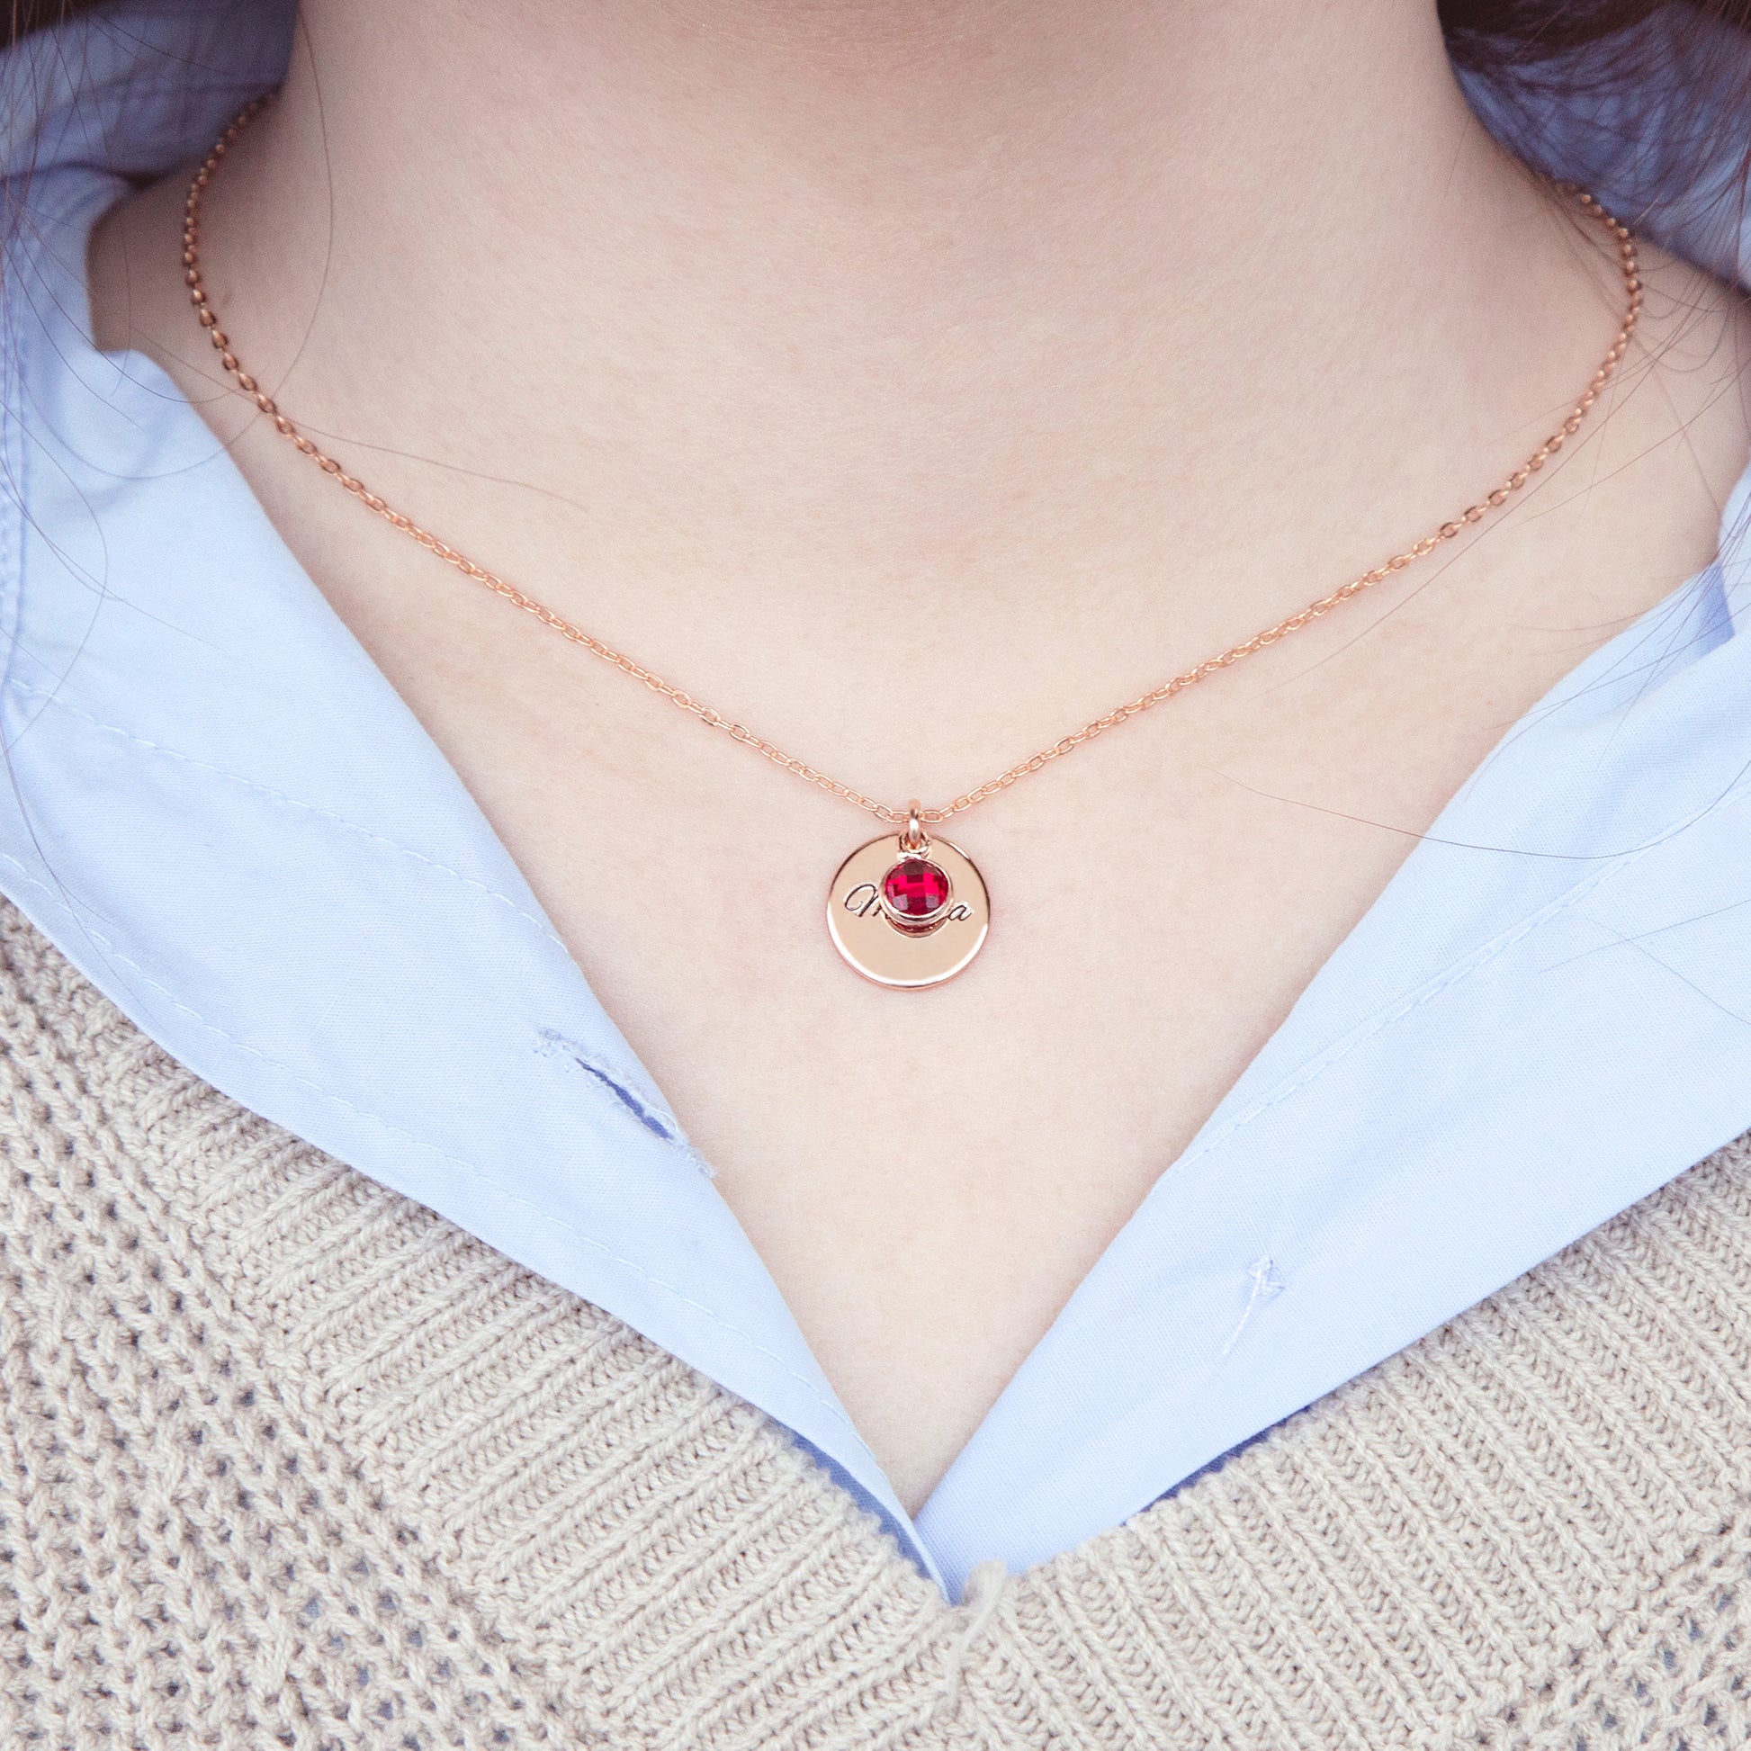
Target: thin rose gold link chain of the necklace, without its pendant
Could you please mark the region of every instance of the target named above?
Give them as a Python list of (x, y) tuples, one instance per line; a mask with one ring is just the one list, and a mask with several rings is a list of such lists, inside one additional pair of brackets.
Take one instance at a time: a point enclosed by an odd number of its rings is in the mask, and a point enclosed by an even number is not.
[[(231, 352), (231, 341), (228, 340), (224, 329), (219, 327), (219, 313), (214, 310), (212, 299), (207, 296), (207, 285), (201, 278), (200, 263), (201, 196), (207, 193), (207, 184), (212, 180), (226, 149), (236, 140), (250, 117), (266, 102), (266, 98), (259, 98), (243, 109), (231, 126), (226, 128), (212, 152), (207, 154), (207, 161), (201, 168), (194, 173), (194, 180), (189, 184), (187, 201), (184, 203), (182, 266), (184, 280), (189, 285), (189, 299), (193, 301), (203, 327), (207, 327), (214, 348), (219, 352), (219, 362), (236, 380), (238, 389), (242, 389), (243, 394), (247, 394), (256, 406), (273, 420), (275, 431), (289, 438), (326, 475), (331, 475), (336, 482), (340, 482), (340, 485), (343, 485), (362, 506), (366, 506), (366, 510), (375, 511), (383, 518), (383, 522), (399, 529), (403, 534), (411, 536), (422, 548), (436, 553), (447, 566), (454, 566), (459, 573), (462, 573), (462, 576), (473, 578), (476, 583), (483, 583), (494, 595), (503, 595), (513, 608), (520, 608), (525, 615), (532, 615), (541, 622), (541, 625), (552, 627), (560, 636), (571, 639), (573, 644), (581, 644), (592, 657), (601, 657), (602, 662), (611, 662), (616, 669), (632, 676), (634, 681), (643, 681), (653, 693), (660, 693), (671, 706), (678, 706), (681, 711), (699, 718), (699, 721), (707, 728), (723, 730), (734, 741), (765, 755), (765, 758), (774, 765), (781, 765), (786, 772), (795, 772), (797, 777), (825, 790), (832, 797), (842, 797), (846, 802), (854, 804), (860, 809), (867, 809), (879, 821), (898, 823), (907, 819), (907, 809), (897, 809), (886, 802), (877, 802), (874, 797), (865, 797), (849, 784), (840, 784), (839, 779), (828, 777), (807, 762), (795, 758), (795, 755), (784, 753), (783, 748), (774, 746), (763, 735), (758, 735), (742, 723), (735, 723), (732, 718), (725, 718), (723, 713), (714, 711), (711, 706), (693, 699), (692, 693), (683, 692), (665, 681), (660, 674), (655, 674), (634, 658), (616, 651), (611, 644), (606, 644), (602, 639), (585, 632), (583, 627), (573, 625), (564, 618), (564, 615), (555, 613), (545, 602), (538, 602), (532, 595), (518, 590), (513, 583), (506, 583), (506, 580), (497, 573), (487, 571), (485, 566), (476, 566), (466, 553), (457, 552), (448, 541), (434, 536), (429, 529), (422, 529), (411, 517), (394, 510), (385, 499), (380, 499), (375, 492), (371, 492), (364, 482), (348, 475), (347, 469), (334, 461), (334, 457), (326, 455), (280, 411), (273, 396), (261, 389), (256, 378), (238, 364), (236, 355)], [(1028, 755), (1026, 760), (1017, 762), (1007, 772), (1000, 772), (996, 777), (986, 779), (986, 783), (979, 784), (975, 790), (963, 791), (940, 809), (918, 811), (918, 819), (947, 821), (951, 816), (974, 807), (974, 804), (984, 802), (988, 797), (995, 797), (998, 791), (1009, 790), (1009, 786), (1017, 779), (1028, 777), (1030, 772), (1038, 772), (1040, 767), (1068, 755), (1084, 742), (1094, 741), (1096, 735), (1126, 723), (1129, 718), (1149, 711), (1152, 706), (1159, 706), (1163, 700), (1171, 699), (1187, 686), (1231, 667), (1243, 657), (1250, 657), (1254, 651), (1261, 651), (1268, 644), (1276, 644), (1280, 639), (1289, 637), (1290, 632), (1299, 632), (1301, 627), (1329, 615), (1340, 602), (1347, 602), (1352, 595), (1361, 595), (1362, 590), (1368, 590), (1376, 583), (1383, 583), (1387, 578), (1404, 571), (1406, 566), (1411, 566), (1424, 555), (1432, 553), (1443, 541), (1452, 541), (1453, 536), (1471, 524), (1483, 522), (1483, 518), (1492, 511), (1501, 510), (1501, 506), (1506, 504), (1508, 499), (1516, 494), (1569, 441), (1569, 438), (1576, 434), (1576, 431), (1579, 431), (1581, 420), (1586, 418), (1593, 403), (1599, 399), (1600, 390), (1611, 380), (1613, 371), (1616, 371), (1623, 354), (1628, 350), (1630, 334), (1635, 331), (1635, 320), (1641, 315), (1642, 289), (1641, 275), (1637, 271), (1635, 240), (1630, 236), (1628, 228), (1606, 212), (1590, 194), (1581, 191), (1572, 193), (1588, 215), (1597, 219), (1606, 231), (1611, 233), (1618, 252), (1618, 263), (1623, 271), (1627, 308), (1623, 322), (1618, 327), (1616, 340), (1613, 340), (1611, 348), (1599, 362), (1599, 369), (1593, 371), (1581, 399), (1574, 403), (1557, 431), (1551, 432), (1551, 436), (1532, 452), (1532, 455), (1529, 455), (1499, 487), (1495, 487), (1494, 492), (1485, 494), (1476, 504), (1469, 504), (1457, 517), (1441, 524), (1420, 541), (1415, 541), (1403, 553), (1394, 553), (1392, 559), (1376, 566), (1373, 571), (1364, 571), (1359, 578), (1352, 578), (1348, 583), (1340, 585), (1329, 595), (1322, 595), (1317, 602), (1308, 602), (1306, 608), (1296, 609), (1296, 613), (1278, 620), (1276, 625), (1266, 627), (1262, 632), (1254, 632), (1254, 636), (1245, 643), (1231, 644), (1226, 651), (1220, 651), (1215, 657), (1206, 657), (1194, 669), (1187, 669), (1184, 674), (1177, 674), (1171, 679), (1163, 681), (1161, 686), (1152, 688), (1147, 693), (1140, 693), (1136, 699), (1126, 700), (1122, 706), (1115, 706), (1101, 718), (1091, 718), (1080, 730), (1073, 730), (1061, 741), (1052, 742), (1051, 748), (1042, 748), (1038, 753)]]

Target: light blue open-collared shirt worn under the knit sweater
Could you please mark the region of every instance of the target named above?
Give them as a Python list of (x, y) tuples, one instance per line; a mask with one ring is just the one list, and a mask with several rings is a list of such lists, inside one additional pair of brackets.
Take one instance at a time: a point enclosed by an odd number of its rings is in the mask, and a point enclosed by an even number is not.
[(91, 347), (117, 172), (198, 156), (285, 53), (284, 12), (189, 0), (0, 67), (0, 890), (200, 1077), (760, 1406), (951, 1593), (1751, 1126), (1740, 483), (1718, 562), (1504, 737), (907, 1516), (455, 772), (180, 392)]

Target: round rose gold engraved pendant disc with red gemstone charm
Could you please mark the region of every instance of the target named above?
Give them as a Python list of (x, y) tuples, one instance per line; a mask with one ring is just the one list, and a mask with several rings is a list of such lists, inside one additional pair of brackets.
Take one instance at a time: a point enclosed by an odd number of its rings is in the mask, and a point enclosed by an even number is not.
[[(947, 877), (940, 905), (933, 870)], [(833, 947), (865, 979), (900, 991), (953, 979), (984, 946), (989, 928), (984, 881), (972, 858), (946, 839), (932, 839), (925, 851), (905, 851), (898, 833), (872, 839), (839, 865), (826, 895)]]

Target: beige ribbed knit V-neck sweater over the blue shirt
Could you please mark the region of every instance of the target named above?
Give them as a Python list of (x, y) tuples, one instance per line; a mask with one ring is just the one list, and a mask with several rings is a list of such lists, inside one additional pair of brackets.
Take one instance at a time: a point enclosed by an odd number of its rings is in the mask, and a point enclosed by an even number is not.
[(0, 1042), (5, 1751), (1751, 1735), (1744, 1145), (951, 1609), (760, 1413), (11, 909)]

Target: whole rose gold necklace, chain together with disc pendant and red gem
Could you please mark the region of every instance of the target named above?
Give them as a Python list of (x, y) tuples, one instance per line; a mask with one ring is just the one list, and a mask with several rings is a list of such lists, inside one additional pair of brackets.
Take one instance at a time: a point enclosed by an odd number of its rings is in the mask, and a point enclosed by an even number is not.
[(1175, 693), (1184, 692), (1187, 686), (1217, 674), (1220, 669), (1231, 667), (1243, 657), (1264, 650), (1266, 644), (1276, 644), (1280, 639), (1289, 637), (1290, 632), (1299, 632), (1322, 615), (1329, 615), (1340, 602), (1347, 602), (1352, 595), (1361, 595), (1362, 590), (1383, 583), (1387, 578), (1404, 571), (1406, 566), (1420, 560), (1425, 553), (1432, 553), (1443, 541), (1452, 541), (1462, 529), (1483, 522), (1492, 511), (1501, 510), (1579, 431), (1581, 420), (1586, 418), (1600, 390), (1611, 380), (1623, 354), (1628, 350), (1630, 334), (1635, 331), (1635, 320), (1641, 315), (1642, 305), (1635, 240), (1630, 236), (1628, 228), (1607, 214), (1590, 194), (1571, 191), (1586, 214), (1606, 228), (1616, 247), (1627, 299), (1623, 320), (1618, 326), (1616, 340), (1613, 340), (1604, 359), (1599, 362), (1599, 369), (1593, 371), (1592, 380), (1581, 392), (1581, 399), (1574, 403), (1557, 431), (1494, 492), (1485, 494), (1476, 504), (1467, 506), (1420, 541), (1411, 543), (1403, 553), (1394, 553), (1392, 559), (1382, 562), (1373, 571), (1364, 571), (1359, 578), (1340, 585), (1329, 595), (1322, 595), (1319, 601), (1308, 602), (1306, 608), (1299, 608), (1287, 618), (1278, 620), (1276, 625), (1255, 632), (1245, 643), (1231, 644), (1226, 651), (1206, 657), (1194, 669), (1171, 676), (1161, 686), (1126, 700), (1122, 706), (1115, 706), (1105, 716), (1091, 718), (1082, 728), (1072, 730), (1049, 748), (1028, 755), (1026, 760), (1016, 762), (1007, 772), (1000, 772), (977, 788), (963, 791), (953, 802), (925, 809), (918, 804), (918, 798), (912, 798), (904, 809), (897, 809), (891, 804), (877, 802), (874, 797), (865, 797), (849, 784), (840, 784), (839, 779), (828, 777), (804, 760), (784, 753), (783, 748), (776, 748), (763, 735), (758, 735), (742, 723), (735, 723), (732, 718), (725, 718), (723, 713), (693, 699), (692, 693), (671, 685), (660, 674), (585, 632), (583, 627), (573, 625), (546, 604), (506, 583), (497, 573), (475, 564), (466, 553), (457, 552), (429, 529), (422, 529), (413, 518), (394, 510), (385, 499), (371, 492), (364, 482), (348, 475), (334, 457), (324, 455), (280, 411), (273, 396), (261, 389), (256, 378), (238, 364), (236, 354), (231, 352), (231, 341), (224, 329), (219, 327), (219, 313), (207, 296), (200, 261), (201, 196), (207, 193), (207, 184), (212, 180), (226, 149), (266, 102), (266, 98), (257, 98), (226, 128), (224, 135), (207, 154), (207, 161), (194, 173), (187, 201), (184, 203), (184, 280), (189, 285), (189, 299), (200, 315), (201, 326), (208, 331), (208, 338), (219, 354), (219, 362), (235, 378), (238, 389), (273, 420), (275, 431), (289, 438), (322, 473), (331, 475), (366, 510), (375, 511), (383, 522), (411, 536), (429, 553), (434, 553), (447, 566), (454, 566), (464, 578), (473, 578), (475, 583), (485, 585), (494, 595), (501, 595), (513, 608), (532, 615), (541, 625), (552, 627), (562, 637), (571, 639), (573, 644), (581, 644), (592, 657), (601, 657), (602, 662), (613, 664), (623, 674), (632, 676), (634, 681), (643, 681), (653, 693), (660, 693), (671, 706), (678, 706), (707, 728), (723, 730), (732, 741), (755, 749), (755, 753), (763, 755), (774, 765), (793, 772), (818, 790), (825, 790), (830, 797), (839, 797), (874, 814), (877, 821), (897, 826), (898, 832), (884, 833), (881, 839), (872, 839), (853, 851), (840, 865), (826, 895), (826, 928), (833, 946), (860, 974), (893, 989), (918, 991), (926, 986), (942, 984), (944, 979), (953, 979), (979, 953), (991, 928), (991, 904), (979, 870), (958, 846), (949, 844), (947, 839), (932, 839), (925, 832), (926, 825), (935, 826), (939, 821), (963, 814), (975, 804), (1009, 790), (1019, 779), (1038, 772), (1049, 762), (1068, 755), (1084, 742), (1094, 741), (1096, 735), (1140, 716)]

